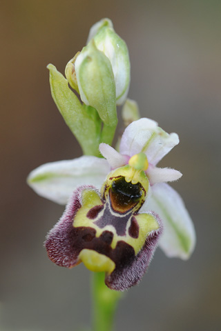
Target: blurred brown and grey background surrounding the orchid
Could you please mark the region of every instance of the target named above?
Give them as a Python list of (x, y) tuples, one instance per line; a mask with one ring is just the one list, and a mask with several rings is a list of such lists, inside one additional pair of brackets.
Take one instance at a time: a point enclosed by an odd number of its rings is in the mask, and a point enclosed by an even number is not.
[(173, 187), (198, 236), (189, 261), (157, 250), (140, 285), (120, 301), (116, 331), (221, 330), (221, 2), (10, 0), (0, 6), (0, 330), (77, 331), (90, 323), (90, 272), (84, 265), (58, 268), (43, 248), (64, 207), (38, 197), (26, 177), (42, 163), (81, 155), (50, 96), (46, 66), (64, 73), (103, 17), (128, 45), (128, 97), (142, 116), (180, 136), (160, 165), (184, 174)]

